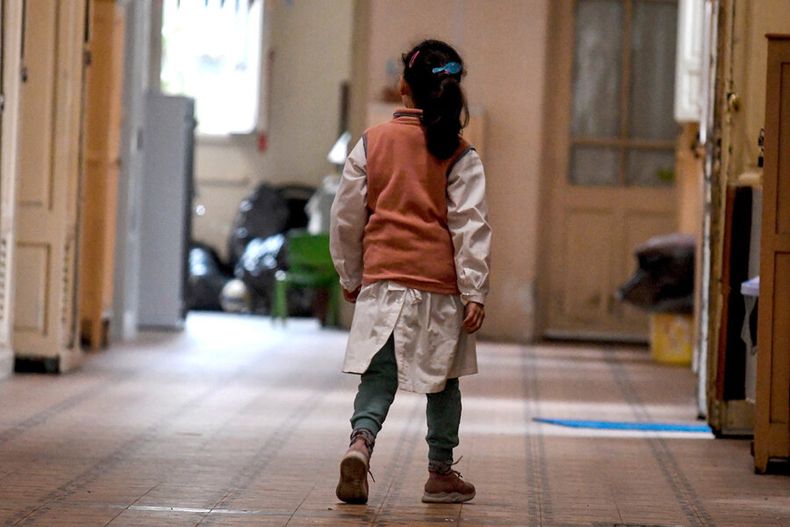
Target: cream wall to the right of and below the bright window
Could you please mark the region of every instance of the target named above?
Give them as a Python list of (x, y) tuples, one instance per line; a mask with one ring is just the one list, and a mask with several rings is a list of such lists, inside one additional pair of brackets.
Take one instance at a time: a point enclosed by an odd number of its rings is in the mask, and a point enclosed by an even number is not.
[[(353, 0), (267, 0), (268, 148), (254, 136), (199, 139), (194, 237), (225, 254), (239, 202), (258, 182), (318, 185), (338, 136), (340, 86), (351, 76)], [(266, 57), (266, 53), (263, 54)], [(266, 61), (266, 59), (264, 59)]]

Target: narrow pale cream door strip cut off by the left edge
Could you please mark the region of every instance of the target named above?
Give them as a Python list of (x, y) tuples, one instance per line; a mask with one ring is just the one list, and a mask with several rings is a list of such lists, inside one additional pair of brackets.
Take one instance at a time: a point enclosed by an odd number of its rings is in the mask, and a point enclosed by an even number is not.
[(13, 370), (13, 249), (23, 0), (0, 0), (0, 378)]

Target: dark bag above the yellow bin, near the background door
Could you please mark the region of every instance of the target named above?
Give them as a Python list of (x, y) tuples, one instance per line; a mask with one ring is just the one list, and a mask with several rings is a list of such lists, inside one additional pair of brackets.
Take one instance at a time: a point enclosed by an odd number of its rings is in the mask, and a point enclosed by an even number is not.
[(669, 234), (636, 248), (636, 272), (618, 290), (621, 300), (651, 312), (694, 309), (694, 237)]

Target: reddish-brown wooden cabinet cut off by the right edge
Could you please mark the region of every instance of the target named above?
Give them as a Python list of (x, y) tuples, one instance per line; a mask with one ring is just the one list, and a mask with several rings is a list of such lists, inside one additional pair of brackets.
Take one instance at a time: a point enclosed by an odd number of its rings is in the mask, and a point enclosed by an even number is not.
[(790, 35), (769, 35), (754, 465), (790, 457)]

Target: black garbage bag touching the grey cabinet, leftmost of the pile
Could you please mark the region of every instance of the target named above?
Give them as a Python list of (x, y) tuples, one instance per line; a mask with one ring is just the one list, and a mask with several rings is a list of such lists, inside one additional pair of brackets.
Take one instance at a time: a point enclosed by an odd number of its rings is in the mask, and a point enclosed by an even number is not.
[(186, 306), (188, 310), (222, 311), (222, 288), (233, 278), (217, 252), (206, 244), (189, 246)]

